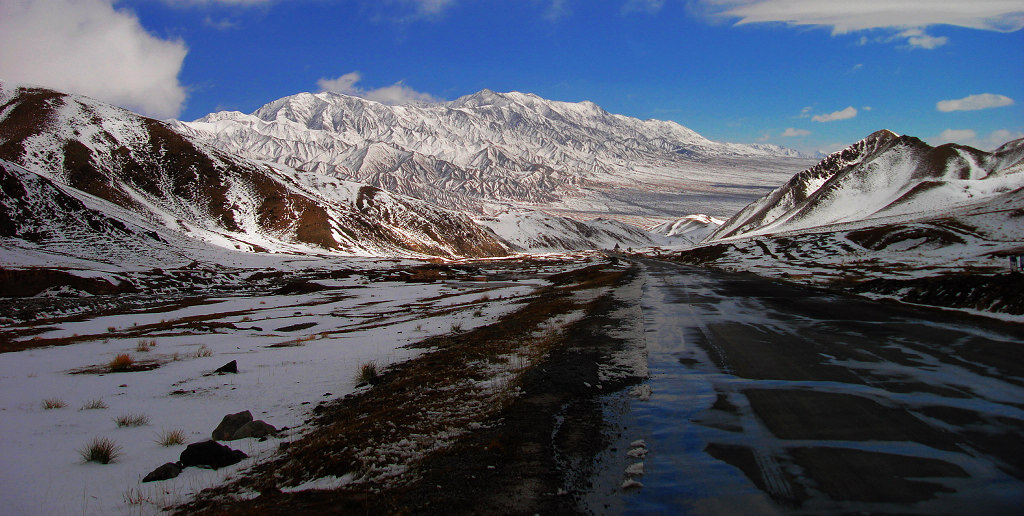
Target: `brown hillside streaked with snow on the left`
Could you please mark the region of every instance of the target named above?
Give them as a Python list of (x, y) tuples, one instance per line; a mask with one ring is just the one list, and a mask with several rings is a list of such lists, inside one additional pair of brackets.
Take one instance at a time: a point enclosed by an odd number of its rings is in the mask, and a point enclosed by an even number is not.
[(139, 227), (243, 251), (449, 257), (509, 251), (461, 213), (233, 157), (87, 97), (2, 82), (0, 159), (9, 162), (0, 225), (23, 240), (31, 233), (67, 241), (59, 232), (69, 224), (58, 222), (76, 217), (101, 221), (87, 225), (120, 238), (117, 224), (102, 222), (117, 211)]

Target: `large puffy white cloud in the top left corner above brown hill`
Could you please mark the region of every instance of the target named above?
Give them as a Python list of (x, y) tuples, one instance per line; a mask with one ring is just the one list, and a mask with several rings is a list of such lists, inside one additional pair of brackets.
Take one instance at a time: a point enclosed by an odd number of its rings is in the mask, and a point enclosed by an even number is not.
[(89, 95), (155, 118), (181, 113), (188, 52), (111, 0), (3, 0), (0, 77)]

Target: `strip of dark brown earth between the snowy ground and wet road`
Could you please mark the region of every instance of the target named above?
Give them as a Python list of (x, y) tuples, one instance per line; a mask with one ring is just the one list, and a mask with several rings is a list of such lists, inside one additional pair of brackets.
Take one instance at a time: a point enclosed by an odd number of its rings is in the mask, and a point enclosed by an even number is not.
[[(318, 406), (311, 430), (284, 443), (275, 458), (177, 511), (580, 512), (573, 487), (585, 486), (568, 479), (587, 478), (588, 471), (578, 470), (590, 467), (605, 445), (598, 396), (638, 379), (601, 385), (600, 362), (622, 345), (605, 335), (617, 302), (571, 295), (583, 285), (620, 285), (636, 271), (578, 272), (574, 281), (559, 276), (559, 287), (494, 325), (423, 342), (430, 351), (389, 369), (371, 390)], [(561, 332), (545, 330), (553, 316), (579, 310), (589, 316)], [(520, 365), (515, 356), (529, 359)], [(399, 476), (388, 473), (392, 468)], [(282, 491), (345, 474), (361, 481)], [(246, 490), (261, 494), (237, 496)]]

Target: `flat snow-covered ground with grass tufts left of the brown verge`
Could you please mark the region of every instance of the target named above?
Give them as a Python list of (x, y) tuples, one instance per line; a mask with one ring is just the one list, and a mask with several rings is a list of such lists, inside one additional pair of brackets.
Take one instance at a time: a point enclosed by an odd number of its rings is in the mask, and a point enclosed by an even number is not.
[[(282, 258), (276, 265), (285, 263)], [(169, 289), (162, 306), (25, 324), (7, 319), (0, 326), (8, 342), (70, 342), (0, 354), (4, 512), (147, 514), (182, 502), (295, 438), (317, 403), (353, 392), (361, 364), (406, 360), (420, 352), (407, 344), (494, 321), (554, 271), (539, 260), (502, 270), (499, 278), (501, 266), (473, 264), (472, 273), (478, 274), (473, 278), (406, 283), (389, 278), (401, 277), (401, 271), (413, 268), (410, 262), (380, 264), (381, 273), (370, 260), (296, 261), (279, 269), (284, 283), (272, 284), (273, 289), (248, 287), (244, 281), (271, 269), (227, 270), (224, 285), (209, 297)], [(562, 259), (551, 263), (559, 271), (574, 266)], [(321, 268), (311, 269), (314, 264)], [(332, 278), (332, 270), (345, 273)], [(125, 270), (99, 275), (132, 277)], [(316, 292), (274, 290), (290, 278), (311, 276), (316, 278), (301, 284)], [(233, 291), (231, 282), (237, 283)], [(143, 341), (155, 345), (143, 346)], [(121, 353), (158, 367), (110, 373), (106, 364)], [(238, 361), (237, 375), (212, 374), (230, 360)], [(45, 408), (45, 400), (66, 406)], [(104, 407), (86, 408), (97, 400)], [(171, 480), (140, 483), (153, 469), (177, 461), (184, 448), (159, 444), (163, 432), (180, 430), (186, 443), (206, 440), (223, 416), (242, 411), (289, 430), (262, 442), (227, 442), (250, 456), (236, 466), (187, 468)], [(133, 415), (147, 423), (119, 427), (115, 422)], [(79, 450), (94, 437), (120, 446), (116, 463), (83, 461)]]

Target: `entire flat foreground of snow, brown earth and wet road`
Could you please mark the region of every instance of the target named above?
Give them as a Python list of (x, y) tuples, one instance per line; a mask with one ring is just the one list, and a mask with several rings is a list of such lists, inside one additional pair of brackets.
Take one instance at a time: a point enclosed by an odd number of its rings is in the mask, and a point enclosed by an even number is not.
[[(0, 327), (8, 508), (926, 514), (1024, 503), (1019, 324), (600, 256), (221, 280), (159, 299), (4, 301), (31, 308)], [(134, 371), (106, 369), (119, 353)], [(231, 359), (239, 374), (211, 374)], [(383, 374), (357, 385), (369, 361)], [(44, 408), (54, 399), (66, 406)], [(104, 407), (87, 410), (95, 399)], [(203, 440), (244, 410), (284, 431), (226, 442), (250, 456), (239, 465), (139, 483), (184, 447), (154, 442), (161, 430)], [(118, 427), (126, 414), (148, 423)], [(121, 461), (84, 464), (76, 450), (93, 436), (118, 442)]]

